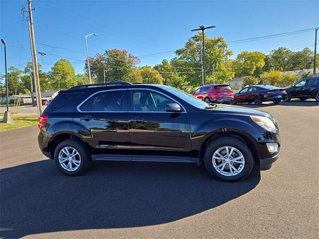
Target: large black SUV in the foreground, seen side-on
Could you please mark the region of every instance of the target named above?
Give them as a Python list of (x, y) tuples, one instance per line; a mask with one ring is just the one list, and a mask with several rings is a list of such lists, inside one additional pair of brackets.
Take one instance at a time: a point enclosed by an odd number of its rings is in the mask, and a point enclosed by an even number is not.
[(126, 82), (60, 91), (39, 117), (38, 143), (65, 174), (92, 160), (204, 163), (217, 179), (269, 169), (281, 141), (265, 112), (207, 104), (163, 85)]

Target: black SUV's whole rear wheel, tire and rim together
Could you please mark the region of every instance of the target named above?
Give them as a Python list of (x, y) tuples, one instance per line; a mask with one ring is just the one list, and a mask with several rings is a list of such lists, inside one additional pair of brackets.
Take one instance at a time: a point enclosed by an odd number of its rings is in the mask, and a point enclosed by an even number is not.
[[(75, 155), (75, 157), (73, 158), (74, 162), (72, 158), (65, 157), (66, 154), (64, 152), (66, 150), (66, 147), (68, 147), (68, 150), (69, 150), (68, 152), (70, 153), (70, 155), (73, 149), (75, 149), (78, 152), (78, 155)], [(62, 149), (64, 149), (64, 152), (62, 151)], [(90, 155), (87, 153), (88, 151), (89, 150), (86, 149), (86, 147), (80, 140), (77, 140), (77, 139), (64, 140), (63, 142), (59, 143), (54, 150), (55, 164), (61, 172), (67, 175), (75, 176), (75, 175), (83, 174), (89, 169), (92, 162)], [(65, 163), (63, 162), (60, 163), (60, 160), (59, 160), (59, 156), (61, 156), (60, 153), (64, 158), (63, 160), (65, 160), (66, 158), (68, 158), (69, 160), (67, 160)], [(71, 166), (69, 166), (69, 163), (71, 164)], [(68, 171), (66, 168), (68, 168), (69, 170), (72, 170), (71, 168), (73, 168), (73, 171)]]

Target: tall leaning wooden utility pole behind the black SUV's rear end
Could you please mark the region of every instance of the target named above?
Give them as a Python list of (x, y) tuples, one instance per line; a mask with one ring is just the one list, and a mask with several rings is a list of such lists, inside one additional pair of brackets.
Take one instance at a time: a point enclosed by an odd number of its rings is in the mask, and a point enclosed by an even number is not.
[(40, 88), (40, 81), (39, 81), (39, 70), (38, 70), (38, 62), (36, 59), (36, 49), (35, 49), (35, 40), (34, 40), (34, 30), (33, 30), (33, 18), (32, 18), (32, 8), (31, 0), (28, 0), (28, 12), (29, 12), (29, 26), (30, 26), (30, 40), (31, 40), (31, 51), (32, 51), (32, 60), (33, 60), (33, 69), (34, 69), (34, 78), (35, 78), (35, 86), (36, 86), (36, 101), (37, 101), (37, 108), (38, 114), (42, 114), (42, 99), (41, 99), (41, 88)]

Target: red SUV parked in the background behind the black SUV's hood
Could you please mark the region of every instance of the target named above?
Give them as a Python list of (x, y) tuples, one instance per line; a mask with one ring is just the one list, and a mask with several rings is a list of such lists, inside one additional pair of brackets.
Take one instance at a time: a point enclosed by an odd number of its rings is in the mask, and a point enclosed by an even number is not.
[(206, 103), (230, 104), (234, 99), (233, 90), (229, 85), (201, 86), (196, 89), (192, 95)]

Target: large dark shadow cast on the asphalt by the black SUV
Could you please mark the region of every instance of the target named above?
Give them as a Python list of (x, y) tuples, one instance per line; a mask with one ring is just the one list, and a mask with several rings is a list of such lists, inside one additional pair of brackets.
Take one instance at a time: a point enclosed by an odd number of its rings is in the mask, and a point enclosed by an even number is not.
[(241, 182), (212, 179), (187, 163), (93, 162), (82, 176), (60, 173), (47, 159), (0, 170), (3, 238), (176, 221), (254, 189), (254, 167)]

